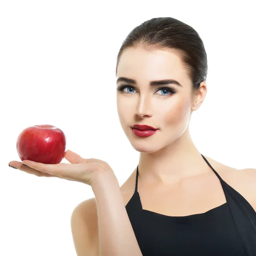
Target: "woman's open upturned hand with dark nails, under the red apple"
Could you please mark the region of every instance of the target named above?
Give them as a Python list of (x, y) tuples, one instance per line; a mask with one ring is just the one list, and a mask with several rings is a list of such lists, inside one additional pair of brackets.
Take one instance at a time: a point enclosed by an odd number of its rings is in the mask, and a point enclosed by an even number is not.
[(9, 165), (38, 177), (58, 177), (65, 180), (79, 181), (90, 186), (99, 174), (105, 173), (115, 176), (113, 170), (105, 161), (96, 158), (85, 159), (69, 149), (66, 151), (64, 158), (71, 164), (45, 164), (23, 160), (22, 163), (11, 161)]

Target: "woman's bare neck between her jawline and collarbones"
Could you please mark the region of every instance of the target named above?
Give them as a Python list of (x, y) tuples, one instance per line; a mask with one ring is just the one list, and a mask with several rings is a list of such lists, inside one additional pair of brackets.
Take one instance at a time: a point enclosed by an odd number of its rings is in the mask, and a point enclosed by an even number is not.
[(188, 129), (166, 147), (140, 153), (139, 179), (143, 182), (167, 185), (207, 172), (209, 166), (192, 142)]

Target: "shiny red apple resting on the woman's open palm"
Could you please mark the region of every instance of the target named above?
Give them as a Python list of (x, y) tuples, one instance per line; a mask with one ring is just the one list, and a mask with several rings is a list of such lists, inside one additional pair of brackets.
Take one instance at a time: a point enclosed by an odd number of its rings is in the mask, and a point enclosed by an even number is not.
[(34, 125), (20, 133), (16, 148), (21, 161), (60, 163), (66, 154), (66, 137), (53, 125)]

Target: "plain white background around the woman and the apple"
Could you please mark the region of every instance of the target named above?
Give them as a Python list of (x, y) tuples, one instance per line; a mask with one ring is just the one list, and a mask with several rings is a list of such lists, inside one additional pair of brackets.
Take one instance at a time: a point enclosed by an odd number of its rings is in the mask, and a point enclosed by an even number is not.
[(204, 41), (207, 96), (190, 122), (198, 150), (236, 169), (256, 168), (253, 2), (0, 2), (1, 256), (76, 256), (70, 216), (94, 197), (89, 185), (10, 168), (20, 161), (23, 129), (61, 128), (68, 149), (108, 162), (120, 186), (137, 167), (140, 153), (116, 110), (116, 56), (128, 33), (153, 17), (179, 19)]

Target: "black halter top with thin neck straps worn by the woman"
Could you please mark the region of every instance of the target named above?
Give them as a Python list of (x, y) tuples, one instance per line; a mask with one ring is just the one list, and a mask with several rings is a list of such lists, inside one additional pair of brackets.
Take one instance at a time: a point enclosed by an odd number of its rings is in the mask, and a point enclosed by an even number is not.
[(143, 256), (256, 256), (256, 212), (212, 168), (227, 202), (207, 212), (167, 216), (142, 209), (137, 191), (125, 206)]

